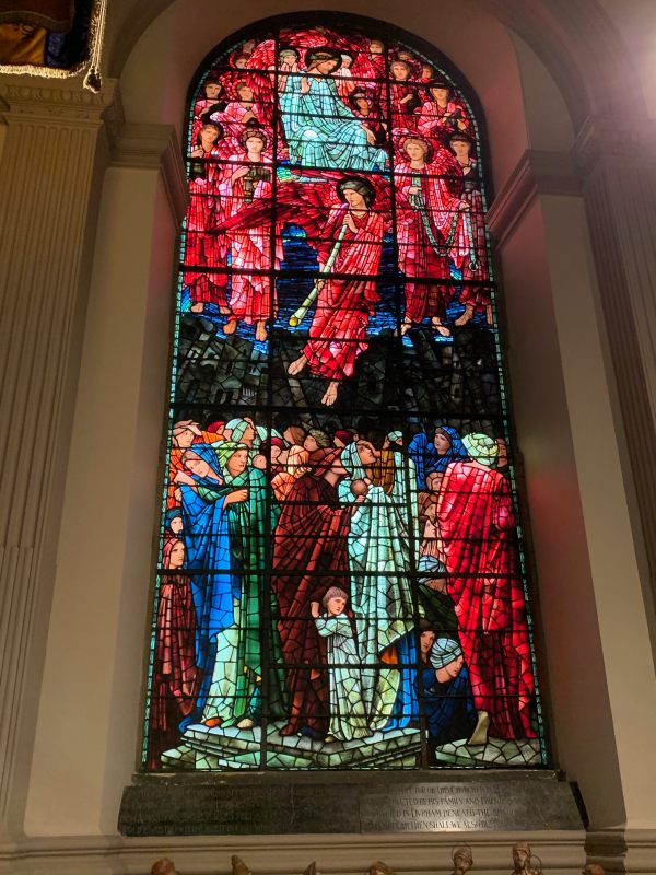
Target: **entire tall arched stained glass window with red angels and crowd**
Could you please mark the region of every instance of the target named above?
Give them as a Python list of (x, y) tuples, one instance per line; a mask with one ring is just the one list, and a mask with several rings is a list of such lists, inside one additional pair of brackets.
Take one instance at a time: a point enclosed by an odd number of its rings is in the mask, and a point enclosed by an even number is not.
[(197, 78), (147, 770), (544, 763), (473, 101), (348, 16)]

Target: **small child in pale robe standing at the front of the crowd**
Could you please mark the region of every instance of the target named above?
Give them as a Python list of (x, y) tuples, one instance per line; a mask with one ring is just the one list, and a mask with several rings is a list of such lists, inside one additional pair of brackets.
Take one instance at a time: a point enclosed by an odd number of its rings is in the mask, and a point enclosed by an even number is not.
[(371, 735), (362, 700), (358, 648), (345, 612), (348, 600), (343, 590), (331, 586), (321, 599), (325, 614), (320, 615), (318, 602), (311, 604), (317, 632), (328, 639), (330, 726), (327, 742), (351, 742)]

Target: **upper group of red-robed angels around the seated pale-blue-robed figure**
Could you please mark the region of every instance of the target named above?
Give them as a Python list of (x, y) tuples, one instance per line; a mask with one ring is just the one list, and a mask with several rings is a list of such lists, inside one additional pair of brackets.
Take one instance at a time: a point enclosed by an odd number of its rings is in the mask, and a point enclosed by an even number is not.
[(204, 78), (189, 130), (190, 311), (266, 340), (285, 229), (301, 226), (317, 281), (296, 302), (291, 325), (308, 317), (307, 342), (289, 372), (327, 380), (326, 405), (366, 347), (386, 235), (403, 278), (401, 334), (492, 323), (476, 126), (412, 52), (319, 27), (249, 40)]

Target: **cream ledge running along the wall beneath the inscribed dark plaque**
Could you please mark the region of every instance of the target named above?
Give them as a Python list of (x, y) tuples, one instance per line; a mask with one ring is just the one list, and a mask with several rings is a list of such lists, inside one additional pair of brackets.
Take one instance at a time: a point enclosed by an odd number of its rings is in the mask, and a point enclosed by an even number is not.
[[(460, 832), (377, 836), (250, 836), (142, 838), (115, 836), (26, 839), (0, 845), (0, 873), (25, 875), (147, 875), (161, 856), (185, 875), (231, 872), (238, 854), (255, 875), (300, 875), (312, 860), (326, 875), (362, 875), (374, 860), (397, 875), (450, 875), (452, 850), (468, 844), (477, 875), (508, 875), (511, 848), (528, 841), (546, 875), (581, 875), (585, 832)], [(610, 875), (609, 870), (609, 875)]]

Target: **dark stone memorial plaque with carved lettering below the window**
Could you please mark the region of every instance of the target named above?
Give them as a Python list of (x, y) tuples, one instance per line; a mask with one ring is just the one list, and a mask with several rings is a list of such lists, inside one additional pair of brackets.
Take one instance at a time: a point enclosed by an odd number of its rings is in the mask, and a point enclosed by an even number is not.
[(554, 772), (395, 779), (137, 779), (124, 795), (119, 829), (128, 836), (246, 836), (582, 828), (572, 788)]

